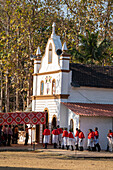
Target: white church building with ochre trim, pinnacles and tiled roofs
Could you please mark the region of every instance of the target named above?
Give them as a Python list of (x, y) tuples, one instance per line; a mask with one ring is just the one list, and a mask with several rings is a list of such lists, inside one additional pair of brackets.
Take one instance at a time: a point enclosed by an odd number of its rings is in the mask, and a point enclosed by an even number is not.
[[(98, 127), (100, 145), (107, 146), (107, 133), (113, 130), (113, 66), (70, 64), (66, 43), (55, 34), (55, 23), (45, 54), (38, 47), (34, 58), (32, 111), (46, 111), (46, 125), (88, 129)], [(36, 126), (36, 140), (43, 142), (44, 125)], [(51, 141), (50, 141), (51, 143)]]

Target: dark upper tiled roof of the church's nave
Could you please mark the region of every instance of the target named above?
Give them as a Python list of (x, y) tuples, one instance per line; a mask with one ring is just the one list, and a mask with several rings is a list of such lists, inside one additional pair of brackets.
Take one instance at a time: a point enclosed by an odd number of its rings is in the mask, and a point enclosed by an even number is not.
[(70, 64), (72, 86), (113, 88), (113, 66)]

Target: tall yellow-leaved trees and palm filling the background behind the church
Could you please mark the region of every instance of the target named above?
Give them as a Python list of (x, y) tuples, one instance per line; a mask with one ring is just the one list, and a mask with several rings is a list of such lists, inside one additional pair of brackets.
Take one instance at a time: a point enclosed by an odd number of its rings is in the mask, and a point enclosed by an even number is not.
[(38, 46), (43, 55), (53, 21), (71, 62), (113, 64), (112, 0), (0, 0), (2, 111), (24, 110), (31, 102), (30, 55)]

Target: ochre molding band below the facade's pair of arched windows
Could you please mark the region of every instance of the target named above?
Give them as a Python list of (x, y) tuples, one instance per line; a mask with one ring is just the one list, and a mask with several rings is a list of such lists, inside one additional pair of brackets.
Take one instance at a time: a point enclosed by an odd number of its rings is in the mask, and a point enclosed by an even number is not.
[(32, 100), (46, 100), (46, 99), (68, 99), (69, 94), (56, 94), (56, 95), (40, 95), (32, 96)]

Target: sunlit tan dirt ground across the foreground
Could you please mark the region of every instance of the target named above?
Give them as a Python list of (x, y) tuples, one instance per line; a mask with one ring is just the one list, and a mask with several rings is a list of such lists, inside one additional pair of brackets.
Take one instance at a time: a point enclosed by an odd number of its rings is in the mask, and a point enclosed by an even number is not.
[(0, 152), (0, 170), (113, 170), (113, 159), (84, 159), (49, 152)]

